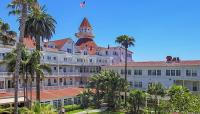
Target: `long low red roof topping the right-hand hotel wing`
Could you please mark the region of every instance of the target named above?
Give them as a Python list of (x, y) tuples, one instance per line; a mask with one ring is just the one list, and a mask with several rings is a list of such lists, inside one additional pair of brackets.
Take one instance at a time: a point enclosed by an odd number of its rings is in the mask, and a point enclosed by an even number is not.
[[(124, 64), (111, 65), (113, 67), (122, 67)], [(180, 62), (166, 61), (147, 61), (147, 62), (129, 62), (129, 67), (179, 67), (179, 66), (200, 66), (200, 60), (188, 60)]]

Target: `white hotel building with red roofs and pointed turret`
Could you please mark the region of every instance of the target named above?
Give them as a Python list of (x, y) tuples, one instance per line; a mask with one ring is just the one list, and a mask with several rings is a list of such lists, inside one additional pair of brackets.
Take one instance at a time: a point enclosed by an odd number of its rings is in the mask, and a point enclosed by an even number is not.
[[(79, 103), (76, 95), (83, 91), (89, 77), (102, 69), (113, 70), (124, 77), (125, 49), (116, 46), (101, 47), (94, 41), (93, 28), (84, 18), (75, 36), (41, 43), (41, 64), (49, 64), (52, 73), (45, 73), (41, 80), (41, 102), (54, 106)], [(24, 38), (30, 50), (35, 49), (33, 38)], [(15, 42), (5, 45), (0, 39), (0, 61), (15, 49)], [(200, 60), (180, 60), (167, 57), (164, 61), (135, 62), (133, 52), (128, 51), (128, 81), (132, 88), (146, 90), (149, 83), (161, 82), (166, 88), (173, 84), (183, 85), (191, 91), (200, 91)], [(32, 80), (35, 88), (35, 79)], [(23, 79), (19, 79), (19, 94), (23, 101)], [(6, 65), (0, 66), (0, 105), (12, 103), (13, 73)], [(32, 93), (35, 99), (35, 91)], [(19, 101), (20, 101), (19, 98)]]

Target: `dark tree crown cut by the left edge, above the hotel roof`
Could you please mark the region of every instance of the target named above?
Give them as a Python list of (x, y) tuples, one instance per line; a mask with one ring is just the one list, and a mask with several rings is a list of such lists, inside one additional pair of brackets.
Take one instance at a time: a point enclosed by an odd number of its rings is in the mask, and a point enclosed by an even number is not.
[(0, 19), (0, 40), (3, 41), (4, 45), (14, 45), (15, 37), (17, 33), (10, 30), (8, 23), (4, 23)]

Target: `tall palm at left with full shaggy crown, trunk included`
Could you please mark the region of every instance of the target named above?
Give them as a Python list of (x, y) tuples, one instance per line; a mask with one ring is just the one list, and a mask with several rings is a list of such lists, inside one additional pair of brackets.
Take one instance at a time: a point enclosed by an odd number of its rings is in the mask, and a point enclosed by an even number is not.
[[(35, 38), (36, 50), (41, 50), (41, 40), (49, 40), (55, 33), (55, 24), (56, 21), (46, 13), (44, 7), (32, 9), (32, 13), (26, 21), (25, 33), (27, 36)], [(37, 63), (40, 64), (40, 56), (38, 56)], [(36, 73), (36, 100), (40, 102), (40, 75), (38, 73)]]

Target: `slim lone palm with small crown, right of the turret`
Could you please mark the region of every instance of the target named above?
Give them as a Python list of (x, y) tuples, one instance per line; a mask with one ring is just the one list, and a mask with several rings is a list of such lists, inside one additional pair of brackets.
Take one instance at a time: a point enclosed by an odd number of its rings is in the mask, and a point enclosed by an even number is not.
[[(115, 42), (121, 44), (122, 47), (125, 48), (125, 80), (127, 81), (127, 51), (128, 47), (135, 45), (135, 39), (128, 35), (121, 35), (116, 38)], [(125, 91), (125, 97), (124, 97), (125, 106), (126, 106), (126, 99), (127, 99), (127, 92)]]

